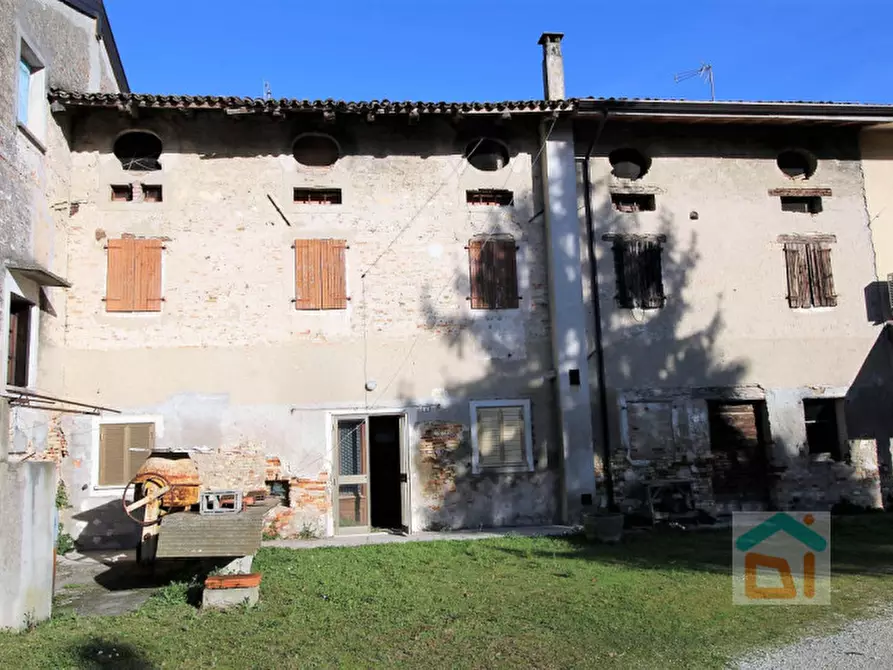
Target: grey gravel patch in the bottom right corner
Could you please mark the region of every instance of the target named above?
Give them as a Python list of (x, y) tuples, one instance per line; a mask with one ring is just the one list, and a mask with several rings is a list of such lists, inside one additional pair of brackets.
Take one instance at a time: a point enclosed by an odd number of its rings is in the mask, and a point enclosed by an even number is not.
[(739, 670), (860, 670), (893, 668), (893, 608), (855, 621), (835, 635), (808, 637), (774, 651), (750, 654)]

